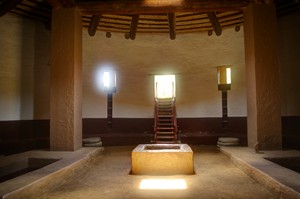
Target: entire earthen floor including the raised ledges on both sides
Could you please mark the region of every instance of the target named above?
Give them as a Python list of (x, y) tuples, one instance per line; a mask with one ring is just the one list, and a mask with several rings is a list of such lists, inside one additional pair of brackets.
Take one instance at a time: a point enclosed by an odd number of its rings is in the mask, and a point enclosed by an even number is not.
[[(264, 159), (300, 157), (299, 151), (266, 151), (247, 147), (191, 146), (194, 175), (130, 175), (135, 146), (82, 148), (75, 152), (32, 151), (2, 158), (57, 157), (60, 161), (0, 183), (4, 198), (135, 199), (135, 198), (292, 198), (300, 199), (300, 174)], [(0, 161), (0, 162), (1, 162)], [(181, 179), (182, 190), (139, 189), (143, 179)]]

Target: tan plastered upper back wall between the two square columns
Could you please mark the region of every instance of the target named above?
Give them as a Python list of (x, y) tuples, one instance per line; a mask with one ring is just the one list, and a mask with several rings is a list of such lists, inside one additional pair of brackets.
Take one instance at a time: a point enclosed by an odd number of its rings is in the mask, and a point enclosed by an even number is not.
[(246, 116), (243, 31), (224, 30), (221, 36), (206, 33), (177, 35), (83, 33), (83, 117), (106, 117), (106, 94), (96, 85), (106, 68), (117, 73), (113, 115), (117, 118), (153, 117), (154, 75), (176, 75), (178, 117), (221, 117), (221, 92), (217, 66), (232, 65), (228, 93), (229, 116)]

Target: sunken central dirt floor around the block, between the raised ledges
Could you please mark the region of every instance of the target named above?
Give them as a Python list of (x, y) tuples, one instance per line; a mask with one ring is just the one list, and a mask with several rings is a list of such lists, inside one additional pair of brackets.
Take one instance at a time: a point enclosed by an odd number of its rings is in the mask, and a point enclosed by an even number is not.
[[(130, 175), (131, 151), (135, 146), (105, 147), (89, 164), (43, 195), (43, 199), (93, 198), (277, 198), (263, 185), (237, 168), (216, 146), (191, 146), (195, 175)], [(141, 190), (143, 179), (184, 179), (187, 189)]]

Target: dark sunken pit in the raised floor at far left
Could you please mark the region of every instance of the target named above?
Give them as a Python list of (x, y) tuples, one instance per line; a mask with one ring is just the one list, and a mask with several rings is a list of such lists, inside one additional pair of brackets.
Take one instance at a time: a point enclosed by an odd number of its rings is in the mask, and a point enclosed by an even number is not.
[(40, 169), (60, 159), (24, 158), (0, 166), (0, 183), (21, 176), (25, 173)]

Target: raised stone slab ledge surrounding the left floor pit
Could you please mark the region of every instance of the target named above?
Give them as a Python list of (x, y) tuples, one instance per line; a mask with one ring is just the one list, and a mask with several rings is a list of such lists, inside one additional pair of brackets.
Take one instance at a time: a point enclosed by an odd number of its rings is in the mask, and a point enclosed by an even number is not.
[(103, 150), (101, 147), (83, 147), (72, 152), (37, 150), (2, 157), (0, 158), (0, 168), (28, 158), (60, 160), (41, 169), (2, 182), (0, 185), (0, 198), (38, 198), (41, 193), (50, 191), (66, 177), (75, 173), (77, 169), (83, 168), (92, 158), (101, 154)]

